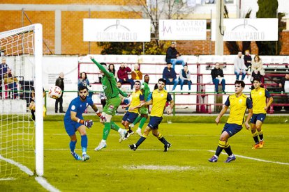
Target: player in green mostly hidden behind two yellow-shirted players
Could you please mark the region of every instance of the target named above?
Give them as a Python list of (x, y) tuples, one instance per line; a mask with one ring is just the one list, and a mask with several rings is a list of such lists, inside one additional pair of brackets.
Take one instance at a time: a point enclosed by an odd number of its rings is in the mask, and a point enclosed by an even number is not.
[[(144, 102), (147, 102), (147, 98), (149, 97), (149, 75), (144, 75), (144, 82), (142, 83), (142, 93), (144, 94)], [(146, 122), (149, 117), (149, 109), (146, 106), (142, 106), (140, 108), (140, 116), (135, 119), (135, 121), (129, 125), (129, 127), (133, 128), (135, 124), (140, 122), (138, 130), (136, 131), (139, 136), (142, 136), (142, 127), (144, 127), (144, 122)]]

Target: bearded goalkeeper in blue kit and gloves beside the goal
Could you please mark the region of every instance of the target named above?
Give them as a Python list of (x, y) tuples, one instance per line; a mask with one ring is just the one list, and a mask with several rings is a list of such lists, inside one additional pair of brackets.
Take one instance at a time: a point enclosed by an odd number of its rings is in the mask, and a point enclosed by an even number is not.
[[(68, 136), (71, 138), (69, 147), (71, 149), (71, 154), (76, 160), (87, 161), (89, 160), (89, 155), (87, 154), (87, 128), (91, 128), (94, 124), (92, 120), (84, 120), (82, 113), (84, 113), (87, 106), (91, 106), (92, 109), (96, 112), (101, 120), (105, 122), (105, 117), (98, 111), (96, 105), (92, 101), (91, 97), (87, 97), (88, 89), (85, 86), (80, 86), (78, 88), (79, 96), (71, 101), (71, 104), (68, 106), (68, 110), (64, 116), (64, 127)], [(82, 157), (75, 153), (75, 145), (77, 143), (77, 138), (75, 132), (80, 132), (81, 135), (81, 147), (82, 147)]]

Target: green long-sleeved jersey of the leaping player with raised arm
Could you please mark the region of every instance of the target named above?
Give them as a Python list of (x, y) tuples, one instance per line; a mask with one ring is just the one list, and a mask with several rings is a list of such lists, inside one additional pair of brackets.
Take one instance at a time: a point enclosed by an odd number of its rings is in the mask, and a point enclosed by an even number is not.
[(108, 72), (108, 70), (106, 70), (103, 65), (95, 61), (94, 58), (92, 58), (91, 61), (93, 61), (99, 68), (99, 70), (101, 70), (104, 74), (101, 78), (101, 84), (103, 85), (103, 91), (105, 93), (105, 96), (108, 99), (119, 97), (119, 93), (124, 97), (128, 96), (126, 93), (122, 92), (119, 88), (117, 88), (117, 81), (115, 81), (114, 75), (111, 72)]

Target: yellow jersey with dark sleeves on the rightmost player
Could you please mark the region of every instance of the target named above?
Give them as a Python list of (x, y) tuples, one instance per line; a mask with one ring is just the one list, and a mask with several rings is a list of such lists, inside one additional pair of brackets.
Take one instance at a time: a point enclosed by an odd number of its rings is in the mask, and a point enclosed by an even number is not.
[(259, 88), (258, 90), (251, 90), (250, 98), (253, 103), (253, 113), (267, 113), (264, 107), (266, 106), (266, 99), (270, 98), (271, 95), (265, 88)]

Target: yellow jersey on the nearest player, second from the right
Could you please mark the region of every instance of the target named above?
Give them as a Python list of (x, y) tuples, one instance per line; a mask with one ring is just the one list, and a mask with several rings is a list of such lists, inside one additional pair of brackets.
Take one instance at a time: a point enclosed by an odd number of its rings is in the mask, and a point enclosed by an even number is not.
[(252, 109), (252, 102), (244, 94), (239, 97), (234, 94), (228, 97), (225, 106), (230, 106), (230, 115), (227, 123), (243, 125), (246, 109)]

